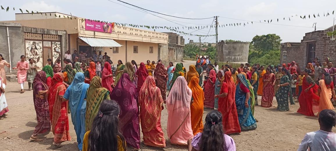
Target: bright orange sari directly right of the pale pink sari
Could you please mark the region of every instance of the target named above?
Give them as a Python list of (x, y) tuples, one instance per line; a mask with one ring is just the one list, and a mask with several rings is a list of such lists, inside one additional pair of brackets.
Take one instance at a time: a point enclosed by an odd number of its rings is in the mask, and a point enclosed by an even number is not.
[(192, 99), (194, 100), (194, 103), (190, 106), (191, 128), (194, 135), (203, 131), (204, 92), (200, 85), (198, 85), (198, 80), (197, 77), (193, 77), (188, 84), (188, 87), (192, 91)]

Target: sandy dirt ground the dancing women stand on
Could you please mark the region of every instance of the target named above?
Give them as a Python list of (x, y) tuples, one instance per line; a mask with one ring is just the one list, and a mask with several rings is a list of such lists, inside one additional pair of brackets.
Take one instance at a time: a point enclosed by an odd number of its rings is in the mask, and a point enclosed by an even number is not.
[[(188, 69), (192, 62), (185, 62)], [(19, 85), (8, 82), (5, 96), (7, 98), (9, 112), (3, 120), (0, 120), (0, 150), (1, 151), (78, 151), (74, 126), (70, 122), (71, 141), (62, 143), (62, 147), (51, 146), (53, 141), (52, 133), (41, 135), (44, 140), (41, 142), (30, 141), (36, 125), (36, 112), (33, 103), (33, 91), (26, 90), (26, 93), (19, 93)], [(25, 84), (28, 89), (28, 83)], [(259, 96), (259, 102), (261, 97)], [(259, 103), (260, 104), (260, 103)], [(290, 106), (290, 111), (276, 111), (277, 101), (274, 98), (273, 106), (263, 108), (255, 107), (255, 117), (259, 120), (256, 130), (244, 131), (238, 135), (231, 135), (236, 142), (238, 151), (294, 151), (307, 132), (319, 129), (318, 117), (308, 117), (295, 113), (299, 105)], [(209, 110), (204, 110), (203, 120)], [(165, 133), (167, 148), (158, 149), (143, 146), (141, 139), (141, 151), (182, 151), (187, 150), (186, 146), (173, 146), (167, 138), (167, 110), (162, 111), (161, 125)], [(69, 118), (71, 116), (69, 115)], [(71, 119), (69, 119), (71, 121)], [(335, 129), (333, 129), (335, 132)], [(142, 136), (141, 136), (142, 137)]]

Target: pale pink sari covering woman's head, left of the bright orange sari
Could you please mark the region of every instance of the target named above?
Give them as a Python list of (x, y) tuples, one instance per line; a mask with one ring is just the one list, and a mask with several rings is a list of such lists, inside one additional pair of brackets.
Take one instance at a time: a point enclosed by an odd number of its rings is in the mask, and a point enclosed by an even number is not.
[(187, 82), (183, 77), (178, 77), (166, 101), (167, 134), (171, 144), (187, 145), (188, 140), (194, 137), (190, 115), (191, 97), (192, 91)]

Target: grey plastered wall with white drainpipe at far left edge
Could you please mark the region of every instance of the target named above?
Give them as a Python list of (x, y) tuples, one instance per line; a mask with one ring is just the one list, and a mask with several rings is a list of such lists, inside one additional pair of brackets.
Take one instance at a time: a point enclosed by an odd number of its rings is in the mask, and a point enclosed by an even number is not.
[[(7, 27), (9, 33), (9, 45), (10, 45), (10, 58), (8, 53), (8, 40), (7, 40)], [(25, 54), (24, 38), (22, 32), (22, 26), (19, 23), (7, 23), (0, 22), (0, 53), (4, 59), (10, 63), (11, 67), (16, 66), (17, 61), (20, 60), (20, 56)], [(12, 70), (15, 74), (17, 70)], [(9, 73), (10, 69), (5, 67), (5, 72)]]

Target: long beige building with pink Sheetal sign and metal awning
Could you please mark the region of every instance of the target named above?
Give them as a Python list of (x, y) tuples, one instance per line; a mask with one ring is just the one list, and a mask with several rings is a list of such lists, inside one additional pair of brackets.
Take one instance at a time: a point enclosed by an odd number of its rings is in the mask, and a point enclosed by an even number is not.
[[(26, 27), (67, 31), (68, 50), (71, 54), (74, 50), (79, 50), (87, 52), (87, 57), (91, 57), (94, 50), (102, 51), (102, 54), (107, 52), (113, 64), (117, 64), (118, 60), (122, 60), (124, 64), (131, 60), (135, 60), (137, 64), (146, 62), (146, 60), (157, 61), (158, 59), (161, 59), (163, 63), (168, 62), (168, 34), (113, 26), (110, 23), (74, 16), (70, 19), (71, 16), (58, 12), (33, 15), (18, 13), (15, 14), (15, 20), (5, 22), (21, 23)], [(65, 52), (62, 51), (62, 55)]]

